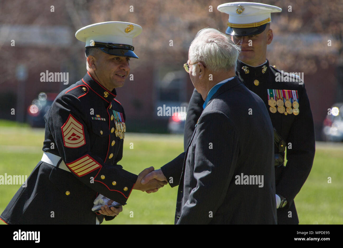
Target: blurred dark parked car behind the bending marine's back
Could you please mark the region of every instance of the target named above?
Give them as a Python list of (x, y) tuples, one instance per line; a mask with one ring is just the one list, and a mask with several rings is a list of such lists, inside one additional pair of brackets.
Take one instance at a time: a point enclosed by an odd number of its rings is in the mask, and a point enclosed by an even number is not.
[(32, 127), (45, 127), (44, 115), (57, 97), (57, 93), (39, 93), (27, 108), (27, 122)]

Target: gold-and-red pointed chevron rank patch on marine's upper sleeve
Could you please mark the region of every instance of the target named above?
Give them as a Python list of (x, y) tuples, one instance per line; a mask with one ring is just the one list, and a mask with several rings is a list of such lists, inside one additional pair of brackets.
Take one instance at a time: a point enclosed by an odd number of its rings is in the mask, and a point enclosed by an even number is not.
[(78, 148), (86, 144), (83, 125), (69, 114), (66, 123), (61, 127), (65, 147)]

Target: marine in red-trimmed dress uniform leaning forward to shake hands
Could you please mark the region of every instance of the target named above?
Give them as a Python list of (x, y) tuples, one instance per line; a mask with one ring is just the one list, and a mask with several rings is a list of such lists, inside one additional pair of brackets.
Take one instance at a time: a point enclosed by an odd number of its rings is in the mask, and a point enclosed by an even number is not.
[(137, 176), (117, 164), (122, 158), (126, 122), (115, 88), (124, 85), (130, 58), (138, 58), (132, 38), (141, 32), (141, 26), (127, 22), (96, 23), (76, 32), (76, 38), (86, 42), (87, 73), (63, 90), (44, 116), (42, 161), (27, 178), (27, 187), (17, 191), (0, 215), (3, 221), (101, 223), (104, 217), (113, 219), (122, 207), (105, 205), (93, 212), (99, 194), (105, 202), (111, 199), (124, 205), (132, 189), (156, 191), (166, 184), (157, 180), (140, 183), (153, 167)]

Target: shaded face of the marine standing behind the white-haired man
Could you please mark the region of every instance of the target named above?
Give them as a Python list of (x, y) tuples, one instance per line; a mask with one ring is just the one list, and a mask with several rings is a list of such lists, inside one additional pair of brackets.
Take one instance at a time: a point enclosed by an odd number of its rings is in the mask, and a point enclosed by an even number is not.
[[(232, 41), (241, 46), (238, 59), (246, 64), (257, 66), (267, 58), (267, 45), (273, 39), (272, 30), (266, 28), (261, 34), (250, 36), (231, 36)], [(249, 46), (250, 45), (250, 46)]]

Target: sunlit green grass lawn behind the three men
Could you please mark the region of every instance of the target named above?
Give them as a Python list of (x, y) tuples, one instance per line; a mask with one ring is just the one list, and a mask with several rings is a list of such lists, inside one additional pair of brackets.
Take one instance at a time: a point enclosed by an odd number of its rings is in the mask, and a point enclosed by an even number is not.
[[(43, 140), (44, 129), (0, 125), (0, 175), (29, 175), (42, 158)], [(181, 135), (126, 133), (120, 164), (138, 174), (150, 166), (160, 168), (182, 151)], [(0, 185), (0, 213), (19, 187)], [(173, 224), (176, 194), (177, 187), (169, 185), (153, 194), (133, 190), (119, 216), (104, 224)], [(300, 224), (343, 224), (342, 145), (317, 146), (312, 171), (295, 202)]]

